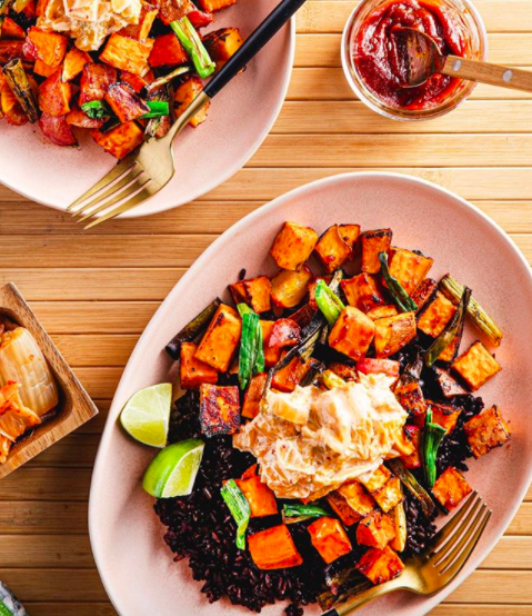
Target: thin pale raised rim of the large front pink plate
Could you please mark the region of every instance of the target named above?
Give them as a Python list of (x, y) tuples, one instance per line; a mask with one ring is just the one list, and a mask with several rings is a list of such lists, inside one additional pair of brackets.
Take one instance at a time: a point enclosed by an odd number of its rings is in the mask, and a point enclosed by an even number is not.
[[(253, 219), (258, 218), (259, 216), (262, 216), (268, 210), (277, 209), (278, 207), (281, 207), (283, 202), (287, 200), (291, 200), (294, 197), (300, 197), (304, 195), (308, 191), (312, 191), (314, 189), (322, 189), (324, 187), (328, 187), (328, 185), (334, 185), (335, 182), (341, 182), (349, 178), (394, 178), (399, 179), (404, 182), (411, 182), (412, 185), (421, 185), (423, 187), (431, 188), (435, 191), (442, 192), (448, 197), (451, 197), (455, 200), (458, 200), (462, 207), (465, 209), (472, 211), (473, 213), (479, 215), (484, 222), (486, 222), (493, 231), (495, 231), (499, 236), (501, 236), (501, 239), (505, 241), (511, 250), (514, 252), (515, 257), (521, 261), (521, 265), (523, 266), (523, 269), (526, 271), (526, 276), (529, 278), (529, 282), (532, 285), (532, 269), (515, 244), (515, 241), (504, 231), (504, 229), (496, 223), (492, 218), (490, 218), (485, 212), (483, 212), (478, 206), (471, 203), (466, 199), (460, 197), (452, 190), (449, 190), (442, 186), (439, 186), (430, 180), (426, 180), (424, 178), (419, 178), (415, 176), (411, 176), (408, 173), (398, 173), (398, 172), (388, 172), (388, 171), (350, 171), (345, 173), (337, 173), (327, 178), (321, 178), (319, 180), (308, 182), (305, 185), (302, 185), (298, 188), (294, 188), (292, 190), (289, 190), (288, 192), (284, 192), (283, 195), (280, 195), (279, 197), (270, 200), (269, 202), (264, 203), (263, 206), (260, 206), (254, 211), (250, 212), (249, 215), (244, 216), (237, 222), (234, 222), (231, 227), (229, 227), (223, 234), (221, 234), (201, 255), (195, 259), (195, 261), (189, 267), (187, 272), (180, 278), (180, 280), (174, 285), (174, 287), (170, 290), (170, 292), (167, 295), (164, 300), (161, 302), (159, 308), (155, 310), (153, 316), (151, 317), (149, 324), (147, 325), (145, 329), (143, 330), (142, 335), (140, 336), (133, 351), (131, 352), (131, 356), (128, 360), (128, 364), (126, 365), (126, 368), (122, 372), (122, 376), (120, 378), (119, 385), (117, 387), (117, 390), (114, 393), (108, 418), (106, 420), (106, 425), (103, 428), (103, 433), (100, 439), (100, 444), (98, 446), (97, 457), (94, 460), (92, 477), (91, 477), (91, 484), (90, 484), (90, 490), (89, 490), (89, 506), (88, 506), (88, 523), (89, 523), (89, 539), (90, 545), (92, 549), (92, 554), (94, 557), (94, 563), (98, 568), (98, 573), (100, 576), (100, 579), (102, 582), (102, 585), (106, 589), (106, 593), (108, 594), (108, 597), (110, 602), (112, 603), (113, 607), (117, 609), (118, 614), (121, 616), (126, 616), (126, 613), (123, 610), (120, 610), (119, 608), (119, 599), (117, 596), (113, 596), (111, 588), (107, 584), (107, 580), (104, 579), (103, 574), (103, 565), (101, 563), (101, 557), (99, 554), (99, 548), (96, 545), (96, 526), (97, 526), (97, 511), (94, 509), (94, 498), (93, 494), (96, 493), (96, 485), (100, 481), (100, 477), (103, 474), (103, 466), (100, 464), (100, 460), (102, 459), (103, 455), (102, 451), (107, 447), (108, 440), (110, 440), (112, 435), (112, 428), (113, 428), (113, 420), (111, 419), (113, 415), (116, 414), (116, 407), (118, 406), (118, 399), (121, 397), (122, 389), (127, 386), (126, 376), (127, 372), (131, 369), (130, 366), (135, 364), (137, 356), (140, 356), (143, 350), (143, 346), (145, 340), (149, 339), (151, 331), (155, 329), (157, 327), (157, 317), (160, 311), (162, 311), (163, 307), (167, 304), (170, 304), (173, 301), (173, 297), (178, 295), (178, 292), (181, 290), (181, 288), (185, 287), (188, 284), (188, 280), (191, 276), (193, 276), (192, 267), (201, 267), (203, 262), (208, 261), (211, 258), (211, 254), (213, 254), (217, 249), (220, 242), (224, 241), (224, 238), (229, 234), (238, 234), (242, 227), (248, 226), (250, 222), (253, 221)], [(101, 467), (101, 468), (100, 468)], [(446, 587), (439, 590), (434, 595), (430, 595), (424, 597), (425, 602), (422, 606), (420, 606), (420, 610), (416, 612), (416, 616), (424, 616), (428, 614), (431, 609), (433, 609), (435, 606), (438, 606), (440, 603), (442, 603), (453, 590), (455, 590), (461, 584), (464, 583), (464, 580), (474, 573), (479, 565), (482, 563), (482, 560), (485, 559), (485, 557), (493, 550), (493, 548), (499, 544), (501, 540), (501, 537), (506, 531), (508, 527), (510, 526), (511, 521), (515, 517), (515, 514), (518, 513), (519, 508), (521, 507), (524, 496), (528, 493), (528, 489), (530, 487), (532, 480), (532, 464), (529, 464), (526, 469), (525, 478), (523, 479), (523, 487), (516, 495), (519, 498), (515, 498), (514, 504), (512, 507), (510, 507), (505, 511), (504, 521), (501, 524), (500, 530), (496, 533), (495, 538), (493, 542), (490, 542), (489, 546), (484, 548), (483, 552), (479, 552), (478, 554), (474, 554), (471, 556), (468, 564), (464, 566), (464, 568), (458, 574), (458, 576), (454, 578), (453, 582), (451, 582)]]

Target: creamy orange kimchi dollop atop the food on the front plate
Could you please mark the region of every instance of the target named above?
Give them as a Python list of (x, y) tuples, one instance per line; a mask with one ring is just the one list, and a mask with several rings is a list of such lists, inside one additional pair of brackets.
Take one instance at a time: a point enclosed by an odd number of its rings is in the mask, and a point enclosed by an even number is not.
[(408, 415), (390, 389), (393, 380), (361, 375), (327, 391), (270, 390), (265, 411), (240, 429), (233, 445), (255, 456), (262, 481), (279, 498), (321, 498), (398, 455)]

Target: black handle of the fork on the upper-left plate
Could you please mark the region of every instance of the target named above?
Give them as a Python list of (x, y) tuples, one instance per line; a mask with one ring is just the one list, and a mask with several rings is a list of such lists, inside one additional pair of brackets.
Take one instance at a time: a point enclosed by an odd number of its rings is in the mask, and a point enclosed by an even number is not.
[(289, 21), (307, 0), (282, 0), (264, 21), (245, 39), (244, 43), (204, 87), (203, 92), (212, 98), (238, 74), (264, 44)]

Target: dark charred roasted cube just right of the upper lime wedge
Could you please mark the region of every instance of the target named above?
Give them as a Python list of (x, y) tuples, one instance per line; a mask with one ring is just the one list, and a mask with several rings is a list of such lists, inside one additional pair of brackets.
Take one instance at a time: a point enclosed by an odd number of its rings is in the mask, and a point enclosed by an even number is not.
[(238, 386), (200, 385), (200, 425), (209, 438), (237, 433), (240, 427)]

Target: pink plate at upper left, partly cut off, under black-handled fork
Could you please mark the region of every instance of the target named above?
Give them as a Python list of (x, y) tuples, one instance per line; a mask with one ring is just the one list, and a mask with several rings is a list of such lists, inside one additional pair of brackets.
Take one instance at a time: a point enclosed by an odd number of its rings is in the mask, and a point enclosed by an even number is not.
[[(217, 13), (210, 28), (234, 26), (250, 34), (278, 0), (239, 2)], [(187, 127), (175, 139), (175, 176), (152, 199), (123, 215), (139, 217), (188, 203), (239, 171), (265, 139), (287, 95), (292, 73), (294, 20), (285, 26), (247, 70), (211, 103), (207, 121)], [(22, 128), (2, 122), (0, 182), (20, 195), (64, 210), (93, 186), (116, 160), (97, 146), (90, 131), (80, 130), (79, 148), (60, 148), (44, 139), (37, 125)]]

